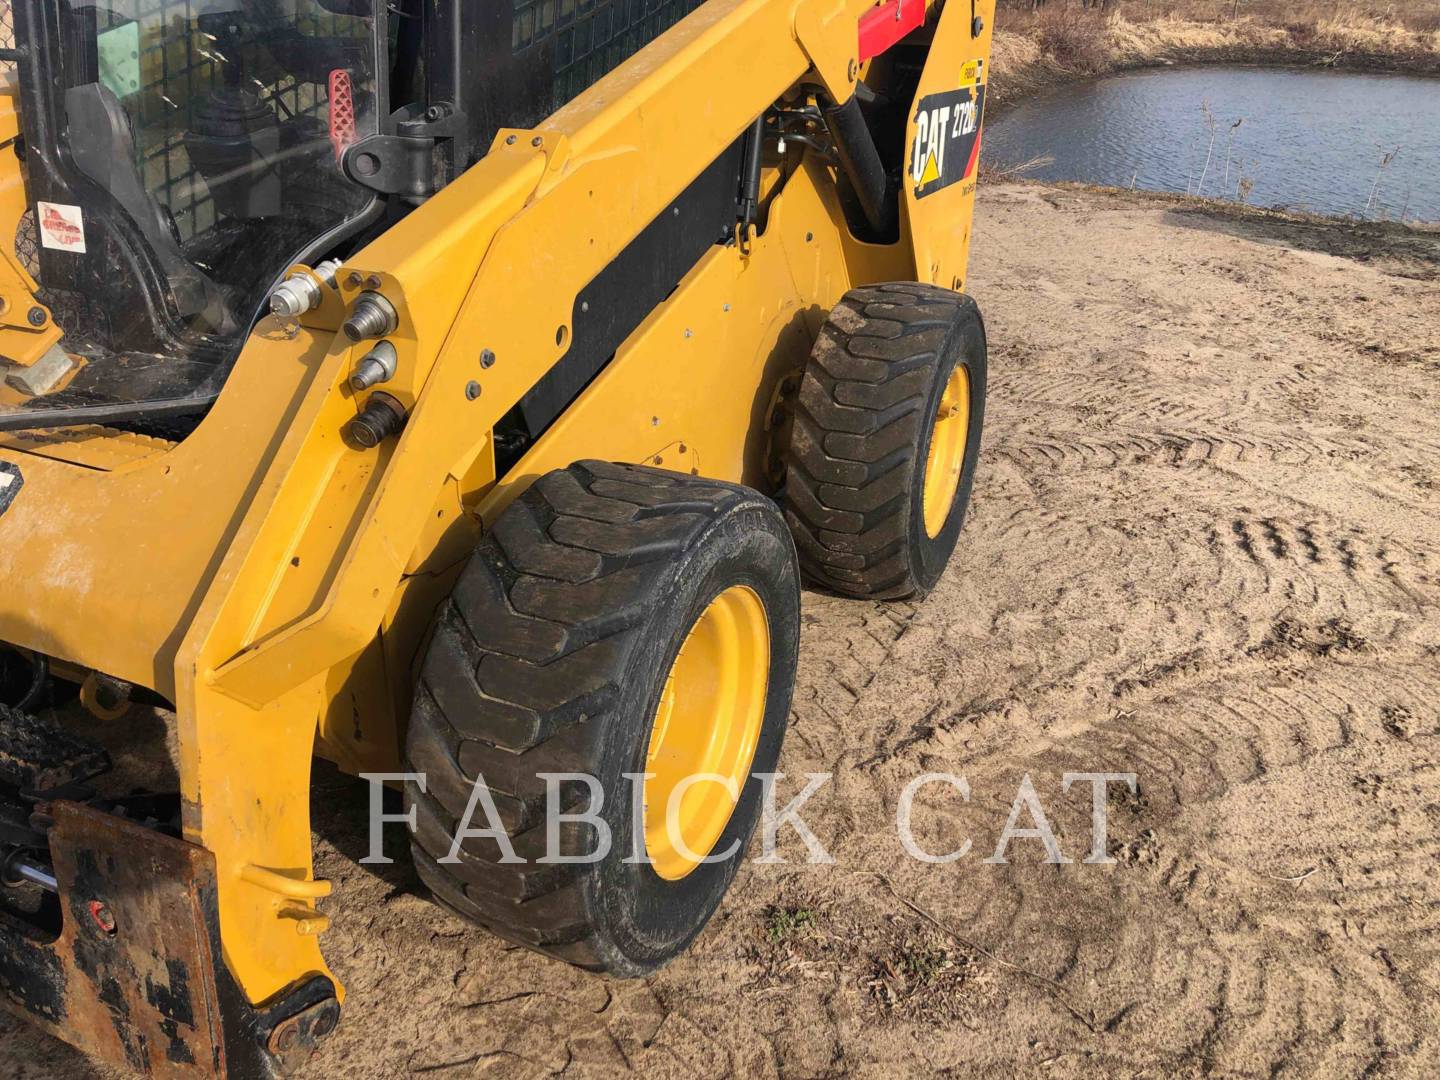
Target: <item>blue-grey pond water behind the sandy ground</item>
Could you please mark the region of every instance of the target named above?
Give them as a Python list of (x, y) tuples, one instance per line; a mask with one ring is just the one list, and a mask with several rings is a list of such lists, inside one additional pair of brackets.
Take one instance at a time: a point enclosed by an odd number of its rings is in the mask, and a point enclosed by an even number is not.
[(986, 125), (982, 153), (998, 167), (1040, 158), (1021, 173), (1038, 180), (1440, 220), (1440, 79), (1208, 66), (1115, 75), (1018, 104)]

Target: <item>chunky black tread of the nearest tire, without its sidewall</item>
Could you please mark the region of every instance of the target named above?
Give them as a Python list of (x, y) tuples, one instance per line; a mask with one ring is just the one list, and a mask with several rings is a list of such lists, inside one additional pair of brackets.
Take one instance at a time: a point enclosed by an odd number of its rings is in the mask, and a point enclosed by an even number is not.
[[(618, 697), (652, 564), (753, 498), (734, 484), (585, 461), (537, 480), (485, 534), (436, 619), (406, 740), (428, 785), (406, 788), (415, 865), (444, 906), (507, 940), (608, 968), (586, 923), (583, 867), (534, 863), (546, 844), (537, 773), (593, 772), (593, 719)], [(524, 864), (500, 861), (484, 838), (439, 863), (477, 776)], [(579, 806), (588, 793), (570, 798)], [(566, 854), (589, 850), (588, 827), (560, 835)]]

